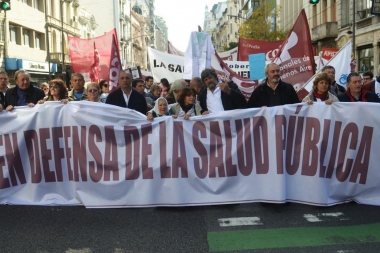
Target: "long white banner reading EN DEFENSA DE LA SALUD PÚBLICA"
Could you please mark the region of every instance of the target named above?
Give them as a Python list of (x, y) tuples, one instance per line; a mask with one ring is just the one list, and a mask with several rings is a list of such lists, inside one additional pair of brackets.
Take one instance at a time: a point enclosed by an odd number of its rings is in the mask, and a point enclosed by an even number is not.
[(379, 205), (379, 109), (315, 103), (147, 121), (101, 103), (18, 107), (0, 113), (0, 203)]

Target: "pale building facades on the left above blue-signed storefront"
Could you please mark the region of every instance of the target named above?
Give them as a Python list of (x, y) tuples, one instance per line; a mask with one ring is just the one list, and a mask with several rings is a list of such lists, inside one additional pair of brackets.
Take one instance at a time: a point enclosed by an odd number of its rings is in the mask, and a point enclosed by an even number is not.
[(95, 17), (77, 0), (19, 0), (0, 16), (1, 69), (14, 83), (14, 73), (25, 69), (33, 84), (61, 76), (68, 81), (71, 62), (67, 36), (90, 38)]

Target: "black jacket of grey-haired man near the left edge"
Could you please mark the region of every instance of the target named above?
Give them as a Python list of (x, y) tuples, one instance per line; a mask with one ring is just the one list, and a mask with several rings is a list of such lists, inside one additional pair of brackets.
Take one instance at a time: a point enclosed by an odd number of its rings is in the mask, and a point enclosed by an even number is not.
[[(7, 93), (5, 94), (5, 102), (4, 102), (5, 107), (7, 107), (8, 105), (17, 106), (17, 100), (18, 100), (17, 89), (19, 89), (18, 86), (7, 90)], [(26, 89), (26, 99), (25, 99), (26, 104), (29, 104), (29, 103), (37, 104), (37, 102), (39, 100), (44, 99), (44, 97), (45, 97), (45, 93), (40, 88), (30, 85), (29, 88)]]

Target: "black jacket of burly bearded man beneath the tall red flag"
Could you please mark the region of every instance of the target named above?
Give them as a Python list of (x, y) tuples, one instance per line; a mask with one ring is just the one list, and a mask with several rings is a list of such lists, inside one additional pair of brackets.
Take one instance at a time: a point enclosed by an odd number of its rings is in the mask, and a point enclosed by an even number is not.
[[(248, 108), (257, 108), (262, 106), (268, 106), (268, 98), (265, 88), (268, 86), (268, 80), (264, 83), (258, 85), (252, 92), (251, 97), (248, 100)], [(296, 104), (299, 103), (299, 99), (293, 85), (290, 83), (285, 83), (280, 80), (277, 85), (276, 92), (281, 94), (281, 103), (279, 105), (285, 104)]]

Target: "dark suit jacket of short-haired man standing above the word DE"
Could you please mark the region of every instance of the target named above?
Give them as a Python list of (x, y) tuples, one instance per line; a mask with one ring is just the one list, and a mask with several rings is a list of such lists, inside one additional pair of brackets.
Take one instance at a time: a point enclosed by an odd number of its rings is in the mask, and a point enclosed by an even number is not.
[(121, 88), (111, 92), (108, 95), (106, 99), (106, 104), (133, 109), (138, 112), (141, 112), (144, 115), (148, 112), (148, 106), (146, 104), (145, 97), (141, 93), (133, 89), (131, 90), (131, 95), (129, 96), (128, 107), (125, 103), (123, 90)]

